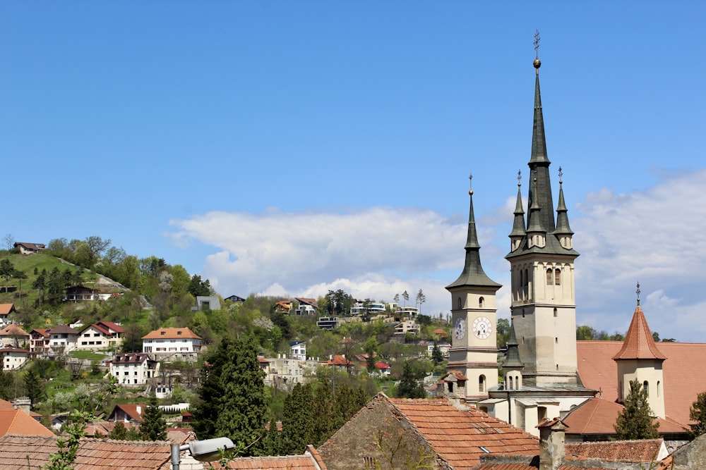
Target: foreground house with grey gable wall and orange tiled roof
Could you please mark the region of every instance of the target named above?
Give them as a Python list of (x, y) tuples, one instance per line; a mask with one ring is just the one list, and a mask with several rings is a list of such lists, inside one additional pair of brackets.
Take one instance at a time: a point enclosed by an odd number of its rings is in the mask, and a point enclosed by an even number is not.
[(537, 454), (539, 440), (459, 400), (378, 393), (318, 451), (330, 470), (409, 464), (470, 469), (486, 453)]

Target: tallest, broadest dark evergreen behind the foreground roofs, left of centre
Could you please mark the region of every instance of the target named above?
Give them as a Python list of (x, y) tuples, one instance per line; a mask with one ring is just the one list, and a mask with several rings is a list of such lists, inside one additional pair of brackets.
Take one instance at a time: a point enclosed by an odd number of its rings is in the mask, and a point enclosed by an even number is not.
[(205, 358), (204, 377), (193, 411), (199, 439), (230, 438), (242, 455), (261, 452), (268, 408), (265, 372), (253, 338), (223, 338)]

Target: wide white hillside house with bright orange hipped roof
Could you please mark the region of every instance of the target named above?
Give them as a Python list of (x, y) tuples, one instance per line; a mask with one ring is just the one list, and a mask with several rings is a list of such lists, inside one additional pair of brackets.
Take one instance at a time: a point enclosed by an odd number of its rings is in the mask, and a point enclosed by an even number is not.
[(196, 361), (201, 337), (189, 328), (160, 328), (142, 337), (142, 352), (157, 361)]

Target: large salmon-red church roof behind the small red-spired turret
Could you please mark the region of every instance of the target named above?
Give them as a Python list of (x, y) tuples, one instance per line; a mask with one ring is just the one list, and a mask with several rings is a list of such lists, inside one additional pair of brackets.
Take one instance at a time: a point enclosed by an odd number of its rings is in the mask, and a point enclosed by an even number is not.
[[(618, 400), (618, 365), (616, 356), (621, 341), (577, 341), (578, 374), (586, 388), (600, 390), (609, 402)], [(683, 364), (706, 362), (706, 343), (659, 342), (666, 356), (662, 362), (664, 377), (664, 412), (678, 423), (689, 423), (689, 407), (706, 390), (706, 374), (695, 373)]]

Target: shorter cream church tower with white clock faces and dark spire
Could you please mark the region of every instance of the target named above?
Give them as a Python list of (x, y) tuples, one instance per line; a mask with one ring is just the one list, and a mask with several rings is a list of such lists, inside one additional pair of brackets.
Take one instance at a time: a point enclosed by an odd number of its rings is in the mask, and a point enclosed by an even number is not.
[[(471, 177), (472, 178), (472, 177)], [(486, 276), (481, 266), (480, 245), (470, 196), (466, 259), (460, 276), (446, 290), (451, 293), (452, 339), (448, 371), (466, 378), (465, 398), (478, 402), (488, 397), (488, 388), (498, 383), (495, 295), (502, 287)]]

